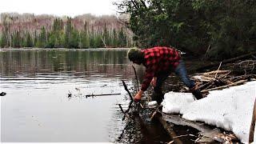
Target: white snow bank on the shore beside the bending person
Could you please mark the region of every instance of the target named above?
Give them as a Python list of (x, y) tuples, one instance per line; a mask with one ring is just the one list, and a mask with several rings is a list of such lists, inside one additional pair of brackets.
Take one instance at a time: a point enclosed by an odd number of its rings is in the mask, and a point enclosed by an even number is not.
[[(256, 81), (210, 91), (206, 98), (198, 101), (194, 101), (192, 94), (170, 92), (165, 94), (162, 111), (166, 114), (180, 113), (182, 118), (231, 130), (241, 142), (246, 143), (249, 138), (255, 93)], [(254, 136), (254, 142), (255, 140)]]

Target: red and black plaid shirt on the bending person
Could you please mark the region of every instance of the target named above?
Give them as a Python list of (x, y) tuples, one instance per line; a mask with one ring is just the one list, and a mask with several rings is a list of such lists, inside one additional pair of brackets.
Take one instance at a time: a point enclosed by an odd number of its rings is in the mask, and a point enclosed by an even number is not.
[(146, 74), (142, 82), (142, 90), (150, 86), (153, 77), (157, 77), (158, 73), (163, 71), (174, 70), (178, 66), (180, 54), (178, 50), (170, 47), (153, 47), (142, 50), (145, 61), (142, 62), (146, 66)]

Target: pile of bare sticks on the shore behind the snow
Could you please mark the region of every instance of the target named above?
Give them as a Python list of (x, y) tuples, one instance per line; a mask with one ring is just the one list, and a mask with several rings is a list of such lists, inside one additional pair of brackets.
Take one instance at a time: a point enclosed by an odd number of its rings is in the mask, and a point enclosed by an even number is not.
[(210, 90), (222, 90), (230, 86), (237, 86), (244, 82), (256, 80), (256, 74), (233, 76), (230, 70), (214, 70), (194, 76), (198, 88), (202, 93)]

